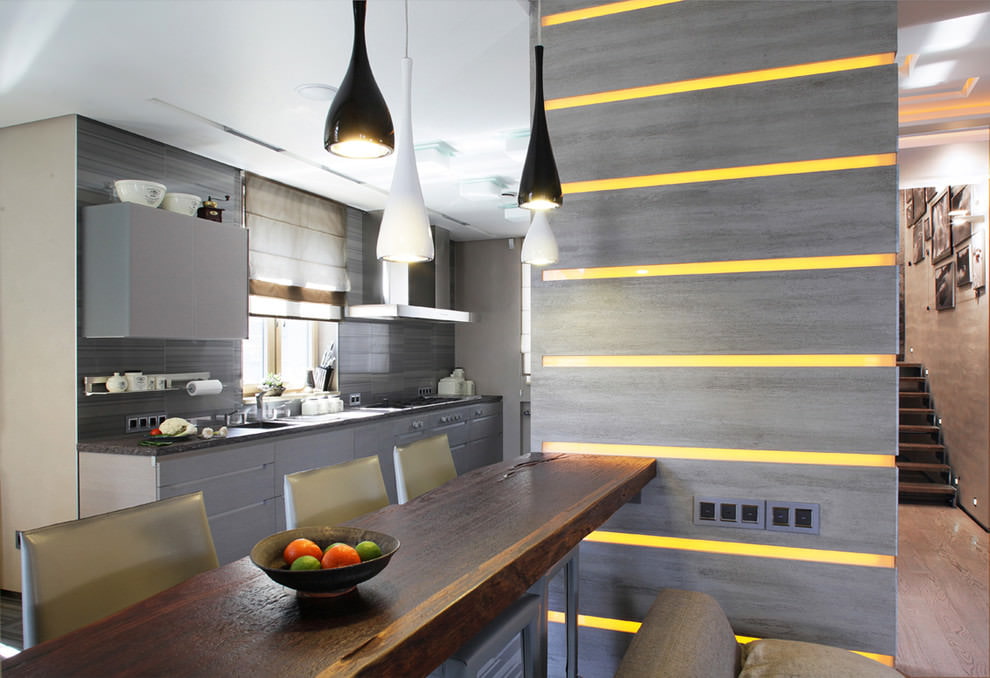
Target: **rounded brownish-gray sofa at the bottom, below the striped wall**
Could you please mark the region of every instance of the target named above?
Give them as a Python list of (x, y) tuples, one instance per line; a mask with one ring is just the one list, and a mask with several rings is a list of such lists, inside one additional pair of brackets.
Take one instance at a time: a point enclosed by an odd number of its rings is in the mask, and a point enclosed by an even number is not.
[(718, 602), (664, 589), (622, 657), (616, 678), (902, 678), (862, 655), (792, 640), (736, 642)]

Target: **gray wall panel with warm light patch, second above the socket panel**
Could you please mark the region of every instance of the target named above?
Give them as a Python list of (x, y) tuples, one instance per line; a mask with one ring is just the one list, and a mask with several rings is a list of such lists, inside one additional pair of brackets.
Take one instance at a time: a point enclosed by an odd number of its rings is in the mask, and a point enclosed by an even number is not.
[(548, 283), (533, 351), (892, 354), (896, 289), (895, 266)]

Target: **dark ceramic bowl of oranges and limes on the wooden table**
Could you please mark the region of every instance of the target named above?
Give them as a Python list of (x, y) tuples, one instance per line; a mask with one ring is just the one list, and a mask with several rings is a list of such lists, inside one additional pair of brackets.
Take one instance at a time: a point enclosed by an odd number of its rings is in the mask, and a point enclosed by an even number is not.
[(297, 527), (255, 544), (251, 562), (300, 594), (340, 595), (384, 570), (398, 550), (399, 540), (382, 532)]

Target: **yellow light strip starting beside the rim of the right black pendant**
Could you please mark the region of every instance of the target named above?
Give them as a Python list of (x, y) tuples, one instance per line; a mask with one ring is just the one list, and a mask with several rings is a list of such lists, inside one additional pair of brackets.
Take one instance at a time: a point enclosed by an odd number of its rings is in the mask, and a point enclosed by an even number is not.
[(896, 164), (896, 153), (877, 153), (871, 155), (850, 155), (840, 158), (822, 158), (819, 160), (774, 162), (765, 165), (742, 165), (739, 167), (722, 167), (709, 170), (667, 172), (664, 174), (648, 174), (636, 177), (571, 181), (562, 184), (562, 188), (565, 195), (572, 195), (574, 193), (617, 191), (627, 188), (646, 188), (649, 186), (673, 186), (706, 181), (731, 181), (736, 179), (753, 179), (756, 177), (810, 174), (813, 172), (836, 172), (864, 169), (867, 167), (887, 167)]

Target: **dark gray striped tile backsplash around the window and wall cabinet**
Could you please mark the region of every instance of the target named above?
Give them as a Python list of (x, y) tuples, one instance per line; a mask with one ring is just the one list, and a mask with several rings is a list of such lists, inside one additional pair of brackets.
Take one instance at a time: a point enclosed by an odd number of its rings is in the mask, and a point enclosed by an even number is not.
[[(77, 196), (81, 210), (114, 202), (113, 182), (144, 179), (169, 191), (202, 197), (230, 195), (225, 223), (242, 223), (241, 172), (186, 151), (79, 118)], [(347, 210), (348, 301), (363, 303), (364, 214)], [(79, 301), (84, 303), (82, 291)], [(82, 317), (80, 313), (79, 317)], [(362, 402), (412, 397), (454, 367), (454, 327), (418, 321), (340, 323), (338, 372), (342, 394), (361, 393)], [(186, 418), (231, 412), (242, 406), (241, 342), (175, 339), (87, 339), (78, 336), (78, 427), (81, 440), (122, 435), (128, 415), (167, 412)], [(218, 396), (191, 398), (185, 391), (85, 396), (84, 376), (141, 370), (145, 374), (209, 372), (223, 382)]]

